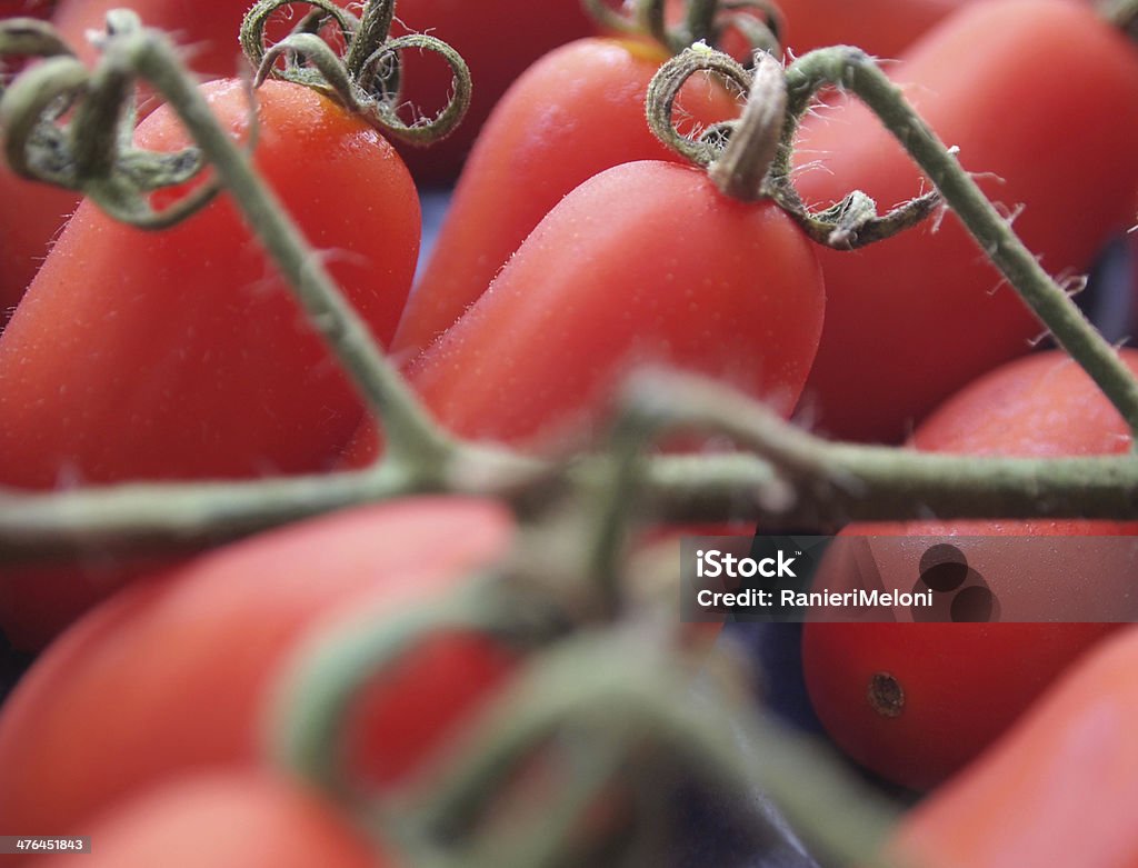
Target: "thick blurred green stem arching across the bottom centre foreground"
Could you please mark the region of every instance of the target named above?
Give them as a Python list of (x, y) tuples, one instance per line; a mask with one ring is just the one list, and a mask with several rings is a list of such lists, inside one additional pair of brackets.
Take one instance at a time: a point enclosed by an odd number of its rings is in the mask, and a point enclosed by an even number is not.
[(750, 703), (695, 702), (691, 669), (635, 631), (582, 634), (539, 655), (456, 744), (446, 778), (407, 809), (428, 835), (462, 828), (519, 759), (574, 726), (653, 749), (741, 804), (765, 792), (831, 854), (883, 863), (892, 809)]

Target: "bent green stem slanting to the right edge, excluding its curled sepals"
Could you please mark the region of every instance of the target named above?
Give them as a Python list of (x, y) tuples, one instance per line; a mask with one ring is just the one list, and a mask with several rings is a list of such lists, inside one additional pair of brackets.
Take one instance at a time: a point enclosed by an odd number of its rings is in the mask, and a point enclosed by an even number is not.
[[(1058, 345), (1098, 383), (1131, 432), (1138, 432), (1138, 380), (868, 55), (839, 46), (811, 51), (790, 66), (784, 141), (793, 139), (797, 119), (809, 109), (815, 93), (827, 84), (852, 91), (881, 118)], [(780, 159), (782, 165), (775, 172), (789, 176), (790, 147), (783, 149)]]

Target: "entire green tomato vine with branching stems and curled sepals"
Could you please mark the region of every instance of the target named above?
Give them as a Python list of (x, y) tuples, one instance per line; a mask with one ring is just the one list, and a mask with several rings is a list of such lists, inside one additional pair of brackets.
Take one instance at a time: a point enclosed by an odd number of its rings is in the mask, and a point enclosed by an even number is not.
[[(372, 113), (385, 129), (422, 138), (422, 130), (401, 126), (395, 118), (393, 94), (398, 92), (397, 52), (409, 47), (434, 47), (430, 38), (387, 41), (394, 14), (390, 2), (365, 3), (358, 18), (338, 8), (333, 11), (335, 5), (327, 0), (311, 2), (316, 7), (314, 17), (306, 18), (298, 32), (267, 50), (259, 38), (263, 16), (282, 3), (265, 0), (255, 7), (244, 35), (250, 56), (261, 65), (258, 81), (269, 74), (283, 74), (331, 89), (347, 105)], [(712, 26), (707, 11), (712, 6), (692, 5), (684, 25), (686, 36), (696, 35), (698, 27)], [(653, 22), (653, 31), (662, 26), (659, 8), (645, 5), (638, 13)], [(315, 36), (325, 17), (333, 18), (345, 34), (345, 60), (332, 63), (327, 46)], [(605, 604), (597, 606), (604, 615), (597, 620), (604, 621), (621, 607), (619, 601), (613, 604), (613, 584), (620, 572), (621, 521), (630, 520), (628, 502), (657, 515), (703, 520), (737, 518), (742, 507), (748, 516), (770, 524), (904, 519), (929, 511), (960, 518), (1138, 518), (1138, 460), (1133, 455), (978, 460), (826, 443), (729, 389), (668, 372), (645, 373), (628, 385), (615, 422), (616, 433), (610, 443), (601, 444), (600, 454), (556, 463), (467, 443), (431, 421), (340, 296), (321, 258), (257, 176), (247, 150), (214, 122), (164, 34), (141, 28), (134, 19), (116, 18), (102, 40), (104, 58), (93, 72), (80, 68), (47, 26), (31, 27), (22, 22), (0, 28), (0, 50), (49, 57), (30, 71), (27, 75), (34, 77), (11, 85), (0, 104), (14, 167), (42, 181), (83, 189), (115, 216), (155, 228), (189, 216), (217, 189), (228, 190), (382, 424), (387, 444), (374, 466), (331, 476), (191, 486), (132, 483), (59, 494), (0, 489), (0, 555), (5, 557), (92, 543), (125, 547), (200, 544), (352, 503), (413, 491), (483, 493), (531, 502), (551, 488), (559, 494), (569, 489), (593, 506), (601, 504), (594, 512), (605, 519), (603, 527), (593, 527), (592, 535), (582, 535), (588, 546), (580, 568), (608, 595)], [(283, 72), (277, 66), (281, 57), (287, 59)], [(461, 61), (447, 58), (460, 80)], [(678, 91), (683, 77), (694, 68), (726, 69), (737, 82), (754, 88), (756, 96), (740, 127), (718, 129), (712, 140), (683, 142), (699, 162), (711, 166), (712, 175), (718, 175), (732, 195), (773, 197), (816, 237), (838, 247), (900, 231), (926, 216), (939, 204), (937, 197), (942, 197), (1062, 346), (1088, 370), (1131, 431), (1138, 430), (1138, 382), (1130, 371), (1019, 243), (1007, 221), (981, 195), (953, 152), (866, 55), (849, 48), (822, 50), (800, 58), (785, 71), (769, 57), (760, 57), (753, 73), (708, 49), (688, 50), (675, 63), (686, 66), (678, 73), (678, 66), (661, 72), (655, 101), (649, 108), (658, 127), (670, 131), (669, 89)], [(196, 149), (160, 158), (123, 149), (125, 137), (115, 118), (124, 105), (124, 114), (130, 117), (130, 91), (135, 78), (149, 82), (173, 106), (197, 142)], [(867, 197), (857, 195), (836, 210), (807, 213), (790, 184), (790, 155), (798, 118), (825, 85), (843, 86), (864, 99), (927, 173), (938, 193), (885, 215), (879, 215)], [(457, 90), (455, 101), (439, 118), (444, 131), (461, 114), (461, 84)], [(74, 107), (72, 119), (63, 121), (60, 106)], [(50, 154), (67, 156), (52, 163), (46, 156)], [(205, 165), (216, 173), (215, 185), (199, 188), (175, 213), (156, 215), (148, 210), (149, 191), (183, 183)], [(687, 429), (724, 433), (745, 452), (696, 460), (644, 454), (665, 433)], [(635, 496), (626, 497), (630, 491)], [(497, 627), (494, 619), (479, 620), (475, 615), (485, 612), (469, 606), (460, 606), (457, 614), (446, 614), (460, 623), (473, 618), (481, 627)], [(348, 654), (351, 666), (341, 684), (324, 680), (321, 675), (320, 683), (330, 685), (328, 689), (345, 693), (319, 706), (315, 724), (307, 721), (313, 726), (311, 731), (321, 734), (319, 739), (296, 733), (284, 739), (288, 761), (302, 767), (311, 762), (313, 776), (328, 775), (329, 758), (323, 752), (331, 739), (324, 736), (335, 729), (344, 696), (363, 672), (373, 671), (377, 662), (381, 663), (385, 654), (394, 653), (391, 650), (407, 637), (438, 626), (426, 619), (388, 623), (379, 634), (369, 627), (369, 643), (378, 645), (379, 651), (369, 645), (365, 653), (356, 648)], [(637, 627), (633, 625), (633, 629)], [(824, 766), (753, 712), (733, 709), (720, 714), (663, 701), (661, 697), (686, 684), (676, 673), (682, 667), (676, 669), (673, 658), (651, 643), (629, 652), (626, 629), (621, 627), (604, 637), (586, 631), (533, 663), (520, 685), (493, 712), (500, 717), (476, 736), (475, 742), (484, 746), (465, 754), (448, 786), (432, 796), (435, 802), (424, 810), (422, 821), (448, 825), (454, 815), (462, 812), (470, 793), (487, 787), (487, 780), (501, 774), (502, 763), (547, 734), (554, 719), (587, 719), (591, 709), (617, 697), (627, 700), (634, 711), (628, 728), (613, 735), (617, 752), (651, 730), (668, 747), (678, 745), (696, 754), (700, 763), (691, 762), (692, 770), (700, 771), (700, 764), (707, 763), (718, 784), (739, 791), (759, 782), (805, 821), (817, 816), (819, 803), (833, 803), (833, 796), (824, 797), (826, 792), (849, 793), (847, 785), (835, 784), (828, 772), (824, 777), (810, 774)], [(641, 653), (643, 647), (649, 650)], [(336, 648), (327, 653), (339, 659)], [(620, 663), (612, 666), (613, 660)], [(302, 693), (312, 695), (307, 688)], [(300, 726), (302, 718), (290, 719)], [(641, 726), (644, 720), (651, 721), (651, 727)], [(725, 752), (721, 741), (723, 733), (733, 726), (742, 726), (756, 743), (777, 738), (781, 750), (741, 763), (737, 753)], [(578, 782), (579, 790), (569, 792), (566, 817), (577, 817), (580, 807), (603, 786), (608, 769), (602, 763), (600, 770), (593, 771), (595, 776), (591, 772)], [(325, 778), (324, 783), (333, 791), (343, 786), (336, 779)], [(831, 825), (817, 829), (815, 824), (815, 829), (832, 849), (872, 863), (883, 834), (882, 812), (868, 804), (855, 811), (851, 804), (857, 805), (857, 800), (849, 800), (841, 811), (824, 811)], [(846, 818), (846, 826), (841, 818)], [(534, 840), (538, 843), (527, 846), (544, 848), (551, 838), (559, 836), (544, 834), (539, 841)], [(519, 863), (539, 863), (533, 850), (525, 853)]]

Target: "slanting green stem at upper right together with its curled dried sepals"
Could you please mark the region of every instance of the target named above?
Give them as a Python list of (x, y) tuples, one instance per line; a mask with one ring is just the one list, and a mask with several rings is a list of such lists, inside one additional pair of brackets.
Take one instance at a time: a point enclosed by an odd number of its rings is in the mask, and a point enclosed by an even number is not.
[[(721, 189), (744, 198), (767, 196), (774, 199), (811, 237), (838, 249), (852, 249), (908, 229), (926, 217), (943, 199), (1056, 342), (1086, 369), (1118, 408), (1130, 431), (1138, 431), (1138, 379), (1122, 363), (1111, 344), (1088, 322), (1063, 287), (1042, 268), (1009, 222), (960, 166), (955, 152), (937, 137), (873, 58), (860, 49), (839, 46), (811, 51), (786, 68), (782, 142), (775, 149), (773, 160), (769, 156), (769, 129), (783, 89), (774, 81), (773, 73), (764, 73), (756, 82), (756, 76), (745, 71), (745, 80), (737, 78), (739, 73), (728, 60), (706, 48), (695, 48), (661, 68), (649, 90), (648, 115), (650, 125), (666, 144), (700, 165), (715, 167), (712, 175), (720, 182)], [(772, 63), (760, 64), (760, 69), (770, 68)], [(673, 129), (675, 94), (686, 77), (699, 71), (726, 73), (736, 83), (745, 81), (749, 88), (757, 84), (743, 119), (726, 125), (729, 134), (725, 149), (723, 137), (715, 143), (693, 143), (683, 141), (684, 137)], [(800, 119), (809, 110), (817, 92), (825, 86), (850, 91), (865, 102), (932, 181), (935, 191), (880, 216), (873, 200), (858, 191), (826, 212), (810, 213), (791, 180), (794, 138)], [(736, 135), (743, 140), (742, 143), (734, 141)], [(769, 168), (762, 172), (768, 163)], [(757, 177), (765, 180), (759, 182), (756, 192)]]

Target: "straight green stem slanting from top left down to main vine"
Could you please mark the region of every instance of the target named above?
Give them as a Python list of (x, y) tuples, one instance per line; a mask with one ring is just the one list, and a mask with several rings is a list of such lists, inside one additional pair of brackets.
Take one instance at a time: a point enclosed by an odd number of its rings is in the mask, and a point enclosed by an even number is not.
[(388, 455), (434, 472), (454, 452), (382, 354), (355, 308), (344, 298), (319, 255), (261, 180), (250, 156), (221, 127), (165, 35), (147, 31), (113, 40), (133, 68), (166, 98), (206, 159), (237, 201), (246, 223), (269, 251), (316, 331), (352, 378), (369, 410), (381, 421)]

